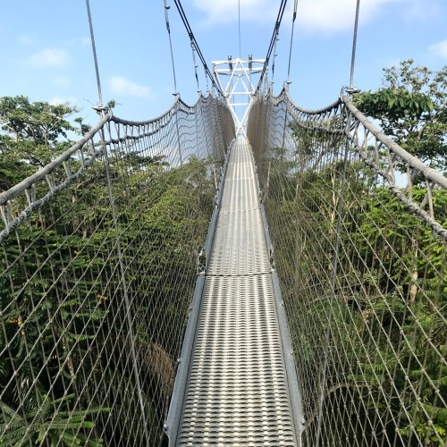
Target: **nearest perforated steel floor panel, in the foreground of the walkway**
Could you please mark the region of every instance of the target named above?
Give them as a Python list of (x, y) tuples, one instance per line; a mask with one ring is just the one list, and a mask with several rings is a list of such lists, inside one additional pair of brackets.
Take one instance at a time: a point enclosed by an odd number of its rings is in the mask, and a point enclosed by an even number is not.
[(270, 274), (208, 277), (179, 445), (296, 445)]

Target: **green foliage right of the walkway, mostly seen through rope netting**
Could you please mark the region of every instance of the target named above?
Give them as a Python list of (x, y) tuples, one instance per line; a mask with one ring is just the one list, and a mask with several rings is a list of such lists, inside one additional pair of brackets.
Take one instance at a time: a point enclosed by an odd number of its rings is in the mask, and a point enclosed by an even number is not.
[[(423, 92), (388, 93), (363, 98), (388, 118), (394, 107), (396, 122), (409, 111), (424, 118), (437, 106)], [(415, 100), (422, 106), (411, 105)], [(398, 117), (401, 101), (408, 104)], [(299, 352), (307, 442), (315, 443), (316, 390), (325, 359), (328, 445), (352, 445), (363, 436), (384, 444), (441, 446), (447, 440), (440, 399), (447, 395), (445, 242), (354, 151), (345, 162), (341, 139), (304, 124), (291, 123), (297, 151), (274, 149), (263, 184), (269, 188), (265, 207), (275, 266)], [(406, 194), (424, 203), (426, 185), (414, 185)], [(433, 213), (446, 227), (447, 192), (432, 192)], [(331, 438), (342, 433), (339, 424), (346, 437)]]

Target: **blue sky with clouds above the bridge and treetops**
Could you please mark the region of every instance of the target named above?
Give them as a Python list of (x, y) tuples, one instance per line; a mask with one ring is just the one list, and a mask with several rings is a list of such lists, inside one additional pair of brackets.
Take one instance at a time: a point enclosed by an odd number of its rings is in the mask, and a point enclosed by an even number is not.
[[(173, 0), (169, 17), (177, 89), (197, 99), (190, 42)], [(241, 56), (264, 58), (279, 0), (240, 0)], [(0, 96), (65, 102), (97, 121), (97, 86), (83, 0), (0, 0)], [(239, 56), (238, 0), (182, 0), (198, 45), (211, 61)], [(114, 113), (144, 120), (173, 102), (173, 74), (164, 0), (90, 0), (105, 102)], [(274, 73), (277, 93), (286, 79), (291, 8), (284, 14)], [(305, 108), (332, 103), (350, 80), (356, 0), (298, 0), (291, 59), (291, 96)], [(439, 70), (447, 63), (446, 0), (361, 0), (355, 85), (377, 89), (382, 69), (401, 60)], [(200, 89), (206, 90), (199, 68)]]

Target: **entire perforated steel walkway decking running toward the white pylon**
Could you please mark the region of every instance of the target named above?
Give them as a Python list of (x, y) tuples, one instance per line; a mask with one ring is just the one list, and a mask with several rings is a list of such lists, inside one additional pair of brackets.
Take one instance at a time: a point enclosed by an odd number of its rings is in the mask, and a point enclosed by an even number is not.
[(236, 141), (176, 445), (298, 445), (249, 144)]

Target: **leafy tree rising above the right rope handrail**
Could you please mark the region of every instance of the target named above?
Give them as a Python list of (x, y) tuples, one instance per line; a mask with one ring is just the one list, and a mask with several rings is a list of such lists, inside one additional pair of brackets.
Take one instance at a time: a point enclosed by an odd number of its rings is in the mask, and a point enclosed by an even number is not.
[(432, 167), (447, 169), (447, 65), (439, 72), (412, 59), (384, 69), (384, 87), (354, 97), (384, 133)]

